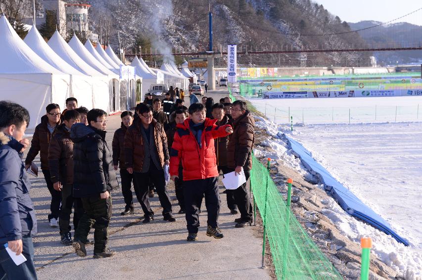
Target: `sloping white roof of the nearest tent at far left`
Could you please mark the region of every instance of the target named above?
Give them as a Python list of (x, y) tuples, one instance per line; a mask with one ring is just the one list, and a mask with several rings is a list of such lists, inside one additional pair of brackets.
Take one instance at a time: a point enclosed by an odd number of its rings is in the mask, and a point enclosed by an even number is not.
[(11, 27), (3, 15), (0, 17), (0, 73), (1, 74), (62, 74), (36, 54)]

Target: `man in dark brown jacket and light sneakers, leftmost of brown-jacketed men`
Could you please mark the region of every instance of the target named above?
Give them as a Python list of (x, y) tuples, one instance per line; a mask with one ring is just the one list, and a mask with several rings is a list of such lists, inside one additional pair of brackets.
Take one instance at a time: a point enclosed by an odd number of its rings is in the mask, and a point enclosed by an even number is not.
[(41, 118), (41, 123), (35, 127), (34, 136), (31, 141), (31, 148), (25, 160), (25, 169), (28, 169), (32, 161), (40, 152), (41, 169), (43, 170), (44, 178), (47, 183), (48, 191), (51, 194), (50, 211), (48, 214), (48, 221), (50, 227), (57, 227), (57, 218), (60, 212), (61, 194), (54, 190), (53, 183), (50, 178), (50, 171), (48, 168), (48, 144), (50, 143), (51, 135), (54, 129), (60, 124), (60, 106), (52, 103), (46, 107), (47, 115)]

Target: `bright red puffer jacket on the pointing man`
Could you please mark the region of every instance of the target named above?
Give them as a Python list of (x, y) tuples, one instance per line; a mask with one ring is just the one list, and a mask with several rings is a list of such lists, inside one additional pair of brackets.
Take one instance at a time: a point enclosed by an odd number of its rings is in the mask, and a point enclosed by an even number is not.
[(226, 127), (217, 126), (217, 120), (205, 119), (204, 130), (201, 136), (201, 148), (192, 131), (189, 129), (190, 119), (177, 125), (173, 145), (170, 151), (170, 175), (178, 176), (179, 164), (182, 160), (183, 180), (206, 179), (218, 176), (217, 159), (215, 156), (214, 139), (226, 137)]

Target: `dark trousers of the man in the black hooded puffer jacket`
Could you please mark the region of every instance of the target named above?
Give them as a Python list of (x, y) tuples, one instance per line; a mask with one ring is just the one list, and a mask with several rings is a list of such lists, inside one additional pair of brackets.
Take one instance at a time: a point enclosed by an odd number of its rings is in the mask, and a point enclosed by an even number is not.
[(107, 246), (107, 228), (111, 219), (111, 195), (104, 200), (97, 196), (82, 198), (85, 213), (79, 220), (75, 240), (87, 242), (91, 227), (94, 228), (94, 253), (104, 252)]

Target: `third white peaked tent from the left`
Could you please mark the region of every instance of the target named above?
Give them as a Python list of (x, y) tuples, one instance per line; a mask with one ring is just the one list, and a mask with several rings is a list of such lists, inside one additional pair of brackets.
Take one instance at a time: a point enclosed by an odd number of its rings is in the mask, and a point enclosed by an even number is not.
[[(113, 93), (109, 92), (109, 78), (102, 73), (96, 71), (88, 65), (79, 55), (66, 43), (60, 36), (58, 31), (54, 32), (53, 36), (48, 40), (48, 45), (67, 63), (85, 75), (92, 76), (93, 93), (92, 98), (87, 95), (79, 95), (76, 92), (73, 95), (78, 99), (79, 103), (89, 107), (88, 103), (91, 99), (92, 108), (102, 109), (110, 112), (114, 108), (110, 105), (113, 101)], [(114, 96), (115, 97), (115, 96)], [(82, 100), (82, 102), (80, 101)]]

